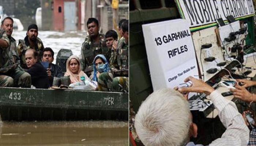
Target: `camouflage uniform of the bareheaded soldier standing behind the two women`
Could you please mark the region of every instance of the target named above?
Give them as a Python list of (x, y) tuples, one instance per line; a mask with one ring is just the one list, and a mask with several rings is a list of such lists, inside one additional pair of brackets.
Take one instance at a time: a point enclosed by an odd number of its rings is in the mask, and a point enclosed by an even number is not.
[(98, 54), (103, 54), (109, 61), (111, 55), (111, 49), (108, 49), (105, 41), (105, 35), (99, 34), (100, 41), (93, 42), (89, 35), (85, 38), (82, 44), (81, 53), (82, 60), (80, 60), (82, 70), (87, 74), (88, 77), (93, 72), (93, 60)]

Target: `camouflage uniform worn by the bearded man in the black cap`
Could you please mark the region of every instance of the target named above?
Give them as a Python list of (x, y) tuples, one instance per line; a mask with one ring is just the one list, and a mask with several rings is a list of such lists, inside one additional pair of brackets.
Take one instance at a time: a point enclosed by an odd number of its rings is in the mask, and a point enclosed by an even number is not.
[(39, 58), (37, 59), (37, 61), (39, 61), (39, 62), (41, 61), (42, 52), (44, 50), (44, 44), (41, 41), (41, 39), (39, 39), (38, 37), (37, 37), (35, 44), (36, 44), (35, 48), (32, 48), (30, 46), (28, 36), (26, 36), (25, 39), (23, 39), (23, 40), (22, 39), (19, 40), (17, 50), (18, 50), (18, 54), (20, 57), (20, 66), (23, 69), (27, 69), (26, 58), (25, 58), (25, 52), (27, 49), (35, 49), (37, 51), (37, 53), (39, 54)]

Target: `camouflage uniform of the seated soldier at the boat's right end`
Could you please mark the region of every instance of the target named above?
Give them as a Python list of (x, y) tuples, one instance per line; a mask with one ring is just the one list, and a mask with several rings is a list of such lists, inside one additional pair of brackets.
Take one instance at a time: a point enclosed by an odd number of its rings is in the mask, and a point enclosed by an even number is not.
[(99, 75), (99, 91), (128, 92), (128, 44), (121, 38), (110, 57), (111, 72)]

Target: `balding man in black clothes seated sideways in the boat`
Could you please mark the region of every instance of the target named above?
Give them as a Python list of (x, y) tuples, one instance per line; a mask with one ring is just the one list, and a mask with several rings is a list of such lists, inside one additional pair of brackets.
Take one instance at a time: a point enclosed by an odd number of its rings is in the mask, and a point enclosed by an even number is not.
[(37, 62), (38, 54), (35, 49), (28, 49), (25, 53), (27, 72), (31, 75), (31, 84), (35, 88), (49, 88), (49, 77), (46, 69)]

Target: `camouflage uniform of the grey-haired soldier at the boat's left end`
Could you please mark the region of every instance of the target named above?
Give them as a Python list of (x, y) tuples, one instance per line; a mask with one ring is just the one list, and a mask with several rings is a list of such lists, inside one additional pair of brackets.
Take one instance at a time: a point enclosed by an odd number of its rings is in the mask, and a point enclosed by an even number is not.
[(8, 39), (7, 49), (0, 49), (1, 51), (0, 55), (3, 59), (3, 64), (0, 64), (0, 68), (2, 69), (8, 68), (9, 66), (14, 66), (15, 63), (17, 63), (18, 66), (8, 70), (7, 72), (4, 72), (4, 73), (0, 72), (0, 87), (14, 86), (14, 87), (30, 88), (31, 86), (30, 74), (24, 72), (24, 70), (19, 66), (20, 60), (18, 57), (17, 49), (16, 49), (16, 41), (12, 37), (10, 38), (7, 37), (7, 39)]

